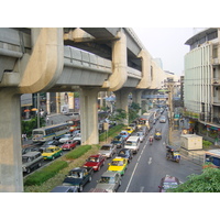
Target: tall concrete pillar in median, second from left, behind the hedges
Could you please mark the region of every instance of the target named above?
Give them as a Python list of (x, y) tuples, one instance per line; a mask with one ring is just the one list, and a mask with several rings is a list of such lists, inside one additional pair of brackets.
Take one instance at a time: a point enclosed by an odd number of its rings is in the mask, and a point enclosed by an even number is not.
[(81, 88), (80, 90), (80, 129), (82, 144), (98, 144), (98, 89)]

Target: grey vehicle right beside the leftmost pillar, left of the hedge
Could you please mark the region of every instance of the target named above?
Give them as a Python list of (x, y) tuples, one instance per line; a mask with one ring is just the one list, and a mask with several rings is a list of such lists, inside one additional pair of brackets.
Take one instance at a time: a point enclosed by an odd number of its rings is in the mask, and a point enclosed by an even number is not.
[(41, 167), (43, 162), (41, 152), (29, 152), (22, 155), (22, 170), (23, 173), (31, 173), (31, 169)]

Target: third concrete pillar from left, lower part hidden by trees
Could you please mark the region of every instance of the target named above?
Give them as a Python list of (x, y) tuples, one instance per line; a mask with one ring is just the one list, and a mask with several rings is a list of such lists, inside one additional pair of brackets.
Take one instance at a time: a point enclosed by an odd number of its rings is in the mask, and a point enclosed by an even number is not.
[[(132, 91), (130, 88), (122, 88), (118, 91), (114, 91), (116, 94), (116, 108), (117, 109), (123, 109), (127, 113), (129, 113), (129, 103), (128, 103), (128, 97), (129, 94)], [(125, 125), (129, 124), (129, 117), (123, 122)]]

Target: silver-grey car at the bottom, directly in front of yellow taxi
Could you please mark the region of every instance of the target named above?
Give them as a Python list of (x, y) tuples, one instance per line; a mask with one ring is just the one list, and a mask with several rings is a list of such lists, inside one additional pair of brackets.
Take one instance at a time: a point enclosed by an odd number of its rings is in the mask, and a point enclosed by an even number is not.
[(116, 193), (121, 186), (121, 175), (117, 172), (105, 172), (97, 183), (96, 189), (105, 189), (108, 193)]

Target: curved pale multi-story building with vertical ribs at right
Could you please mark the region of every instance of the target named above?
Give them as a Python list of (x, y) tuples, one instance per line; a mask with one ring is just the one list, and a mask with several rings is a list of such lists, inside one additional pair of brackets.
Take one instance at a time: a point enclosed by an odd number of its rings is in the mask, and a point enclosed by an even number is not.
[(185, 55), (186, 114), (198, 121), (204, 131), (213, 130), (216, 135), (211, 138), (217, 138), (220, 130), (220, 29), (206, 29), (185, 44), (190, 46)]

